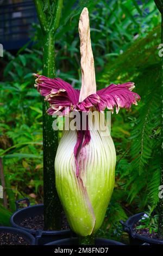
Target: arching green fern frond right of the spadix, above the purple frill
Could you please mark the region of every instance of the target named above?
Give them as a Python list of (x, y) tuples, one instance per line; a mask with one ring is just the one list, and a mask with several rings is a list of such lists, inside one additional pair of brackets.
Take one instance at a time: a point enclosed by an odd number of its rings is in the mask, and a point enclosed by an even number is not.
[[(126, 52), (120, 55), (115, 62), (106, 65), (102, 78), (99, 80), (99, 89), (106, 84), (122, 83), (134, 81), (137, 87), (142, 88), (142, 82), (136, 83), (135, 78), (140, 77), (142, 72), (147, 70), (148, 75), (143, 77), (145, 80), (150, 78), (150, 65), (160, 63), (157, 46), (160, 43), (160, 26), (153, 29), (146, 38), (137, 39)], [(155, 78), (157, 75), (155, 74)], [(154, 84), (149, 82), (148, 87)], [(144, 88), (144, 87), (143, 87)], [(145, 88), (146, 90), (147, 88)]]

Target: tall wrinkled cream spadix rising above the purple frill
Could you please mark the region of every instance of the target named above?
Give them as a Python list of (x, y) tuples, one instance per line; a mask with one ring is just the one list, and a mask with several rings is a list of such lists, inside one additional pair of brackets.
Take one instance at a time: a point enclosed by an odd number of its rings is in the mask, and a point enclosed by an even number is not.
[(85, 7), (79, 19), (80, 54), (82, 87), (80, 90), (79, 102), (91, 94), (96, 93), (95, 66), (90, 38), (89, 11)]

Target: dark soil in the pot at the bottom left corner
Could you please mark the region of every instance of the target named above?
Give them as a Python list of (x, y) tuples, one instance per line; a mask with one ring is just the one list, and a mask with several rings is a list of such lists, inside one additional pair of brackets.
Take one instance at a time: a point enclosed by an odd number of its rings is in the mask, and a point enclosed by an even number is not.
[(19, 234), (0, 230), (0, 245), (30, 245), (30, 243)]

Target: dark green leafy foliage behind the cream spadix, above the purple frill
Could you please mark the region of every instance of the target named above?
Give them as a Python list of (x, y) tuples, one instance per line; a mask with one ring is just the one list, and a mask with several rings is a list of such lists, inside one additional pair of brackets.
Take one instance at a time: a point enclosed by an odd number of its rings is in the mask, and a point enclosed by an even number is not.
[[(101, 77), (101, 71), (106, 63), (120, 56), (137, 36), (142, 38), (147, 35), (160, 22), (158, 10), (152, 0), (142, 1), (139, 11), (135, 8), (135, 1), (129, 0), (82, 0), (74, 4), (75, 2), (64, 1), (60, 27), (55, 34), (55, 50), (57, 76), (71, 82), (77, 88), (80, 88), (81, 83), (78, 22), (83, 7), (87, 7), (90, 13), (92, 50), (97, 78)], [(39, 26), (36, 28), (35, 39), (41, 41), (40, 28)]]

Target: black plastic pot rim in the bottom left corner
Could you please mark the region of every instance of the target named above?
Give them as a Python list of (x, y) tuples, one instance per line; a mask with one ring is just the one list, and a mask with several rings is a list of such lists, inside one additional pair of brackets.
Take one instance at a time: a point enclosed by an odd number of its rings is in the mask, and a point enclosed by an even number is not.
[(0, 231), (7, 231), (11, 234), (20, 235), (21, 237), (23, 237), (24, 240), (29, 243), (29, 245), (35, 245), (35, 237), (24, 230), (18, 228), (0, 227)]

